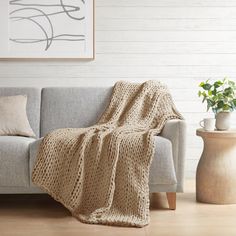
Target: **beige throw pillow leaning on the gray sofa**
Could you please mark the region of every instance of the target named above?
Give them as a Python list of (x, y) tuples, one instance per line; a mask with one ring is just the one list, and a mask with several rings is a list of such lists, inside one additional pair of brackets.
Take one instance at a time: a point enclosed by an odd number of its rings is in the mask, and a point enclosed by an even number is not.
[(26, 113), (27, 96), (0, 97), (0, 135), (35, 137)]

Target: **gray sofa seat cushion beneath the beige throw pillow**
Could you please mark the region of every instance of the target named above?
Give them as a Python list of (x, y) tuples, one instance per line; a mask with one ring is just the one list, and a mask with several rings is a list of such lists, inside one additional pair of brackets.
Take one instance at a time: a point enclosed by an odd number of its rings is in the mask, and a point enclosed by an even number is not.
[(33, 138), (0, 136), (0, 186), (29, 186), (29, 144)]

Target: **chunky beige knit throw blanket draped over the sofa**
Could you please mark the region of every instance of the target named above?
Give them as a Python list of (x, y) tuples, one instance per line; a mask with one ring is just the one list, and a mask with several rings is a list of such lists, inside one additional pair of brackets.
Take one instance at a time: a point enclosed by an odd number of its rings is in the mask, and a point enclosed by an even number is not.
[(181, 115), (161, 83), (117, 82), (96, 125), (45, 136), (32, 180), (82, 222), (143, 227), (154, 135), (174, 118)]

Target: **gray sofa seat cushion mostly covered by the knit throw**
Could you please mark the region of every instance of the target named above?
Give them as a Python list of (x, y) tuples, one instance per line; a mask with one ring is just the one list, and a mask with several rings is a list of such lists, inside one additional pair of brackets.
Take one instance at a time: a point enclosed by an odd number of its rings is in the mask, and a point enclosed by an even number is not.
[[(34, 163), (37, 157), (41, 139), (30, 145), (30, 185)], [(161, 136), (155, 136), (155, 155), (151, 163), (149, 185), (174, 185), (177, 183), (171, 142)]]

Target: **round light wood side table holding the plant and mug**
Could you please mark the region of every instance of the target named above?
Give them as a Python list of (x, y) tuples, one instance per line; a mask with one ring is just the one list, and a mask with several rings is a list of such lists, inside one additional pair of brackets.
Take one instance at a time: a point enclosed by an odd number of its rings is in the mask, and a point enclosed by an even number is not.
[(196, 175), (197, 201), (236, 203), (236, 130), (196, 133), (204, 141)]

